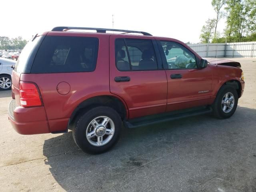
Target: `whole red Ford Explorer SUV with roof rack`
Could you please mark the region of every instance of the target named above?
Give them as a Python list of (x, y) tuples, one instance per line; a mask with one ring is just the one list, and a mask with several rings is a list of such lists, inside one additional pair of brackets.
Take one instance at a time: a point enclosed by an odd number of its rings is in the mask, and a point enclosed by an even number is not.
[(146, 32), (56, 27), (20, 54), (9, 120), (20, 134), (70, 129), (80, 149), (101, 153), (118, 141), (122, 123), (136, 128), (210, 112), (229, 118), (244, 91), (239, 67)]

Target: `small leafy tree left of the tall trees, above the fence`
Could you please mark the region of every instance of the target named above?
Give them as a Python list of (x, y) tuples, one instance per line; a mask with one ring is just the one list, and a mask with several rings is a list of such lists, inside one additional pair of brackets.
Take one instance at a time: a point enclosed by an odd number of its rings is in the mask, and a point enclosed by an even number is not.
[(208, 43), (212, 37), (214, 26), (216, 24), (215, 19), (208, 19), (206, 24), (202, 27), (200, 39), (202, 43)]

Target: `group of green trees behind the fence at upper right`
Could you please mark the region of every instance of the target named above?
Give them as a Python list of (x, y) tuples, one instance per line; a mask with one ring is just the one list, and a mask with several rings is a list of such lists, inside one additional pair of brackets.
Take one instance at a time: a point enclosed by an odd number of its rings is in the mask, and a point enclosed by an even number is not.
[[(224, 5), (226, 28), (225, 36), (221, 37), (216, 29), (219, 20), (224, 16), (224, 12), (221, 11)], [(256, 0), (212, 0), (212, 6), (216, 12), (212, 43), (256, 41)], [(210, 40), (212, 33), (209, 29), (210, 20), (202, 28), (202, 42)]]

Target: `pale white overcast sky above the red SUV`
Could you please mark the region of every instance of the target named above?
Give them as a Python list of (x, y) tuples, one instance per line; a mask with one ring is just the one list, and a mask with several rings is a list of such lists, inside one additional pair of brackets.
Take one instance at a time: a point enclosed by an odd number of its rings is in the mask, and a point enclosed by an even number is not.
[[(6, 0), (1, 2), (0, 36), (30, 39), (55, 26), (145, 31), (154, 36), (200, 42), (200, 30), (215, 12), (211, 0)], [(221, 33), (225, 20), (218, 24)]]

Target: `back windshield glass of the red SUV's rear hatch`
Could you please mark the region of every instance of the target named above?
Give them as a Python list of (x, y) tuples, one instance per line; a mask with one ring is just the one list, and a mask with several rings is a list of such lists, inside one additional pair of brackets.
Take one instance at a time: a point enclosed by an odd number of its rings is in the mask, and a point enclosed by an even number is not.
[(22, 50), (18, 61), (16, 62), (16, 66), (14, 71), (18, 73), (29, 73), (32, 62), (34, 60), (34, 56), (38, 50), (38, 46), (43, 40), (44, 36), (38, 36), (33, 40), (30, 40), (24, 49)]

